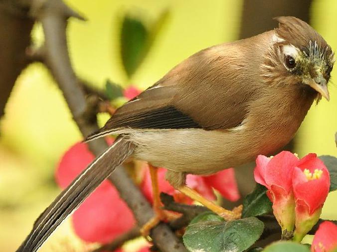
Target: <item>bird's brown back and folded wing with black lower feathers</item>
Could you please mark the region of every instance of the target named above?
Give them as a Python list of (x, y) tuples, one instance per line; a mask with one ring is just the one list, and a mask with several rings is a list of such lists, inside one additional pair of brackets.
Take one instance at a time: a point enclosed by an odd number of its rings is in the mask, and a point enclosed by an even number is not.
[(210, 48), (191, 56), (120, 107), (99, 132), (86, 140), (132, 130), (215, 130), (239, 126), (247, 114), (253, 89), (239, 85), (244, 81), (244, 75), (239, 73), (242, 64), (217, 54), (218, 50)]

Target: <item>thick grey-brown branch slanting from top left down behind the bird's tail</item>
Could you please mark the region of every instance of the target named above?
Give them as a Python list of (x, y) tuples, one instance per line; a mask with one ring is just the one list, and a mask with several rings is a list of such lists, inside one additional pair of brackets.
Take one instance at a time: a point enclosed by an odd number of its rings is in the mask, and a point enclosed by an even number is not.
[[(94, 120), (95, 115), (92, 114), (90, 106), (88, 106), (85, 92), (80, 87), (71, 66), (67, 48), (67, 19), (70, 16), (77, 18), (81, 18), (81, 16), (65, 5), (62, 0), (17, 1), (28, 4), (31, 15), (42, 23), (45, 36), (45, 58), (43, 62), (50, 69), (52, 76), (62, 90), (79, 130), (83, 136), (98, 130), (96, 120)], [(90, 116), (90, 114), (92, 115)], [(107, 144), (103, 139), (99, 139), (89, 143), (89, 148), (97, 156), (107, 148)], [(109, 177), (109, 180), (115, 185), (120, 196), (133, 211), (140, 226), (147, 223), (154, 216), (151, 205), (122, 167), (117, 168)], [(162, 252), (186, 251), (168, 225), (158, 225), (152, 230), (151, 236)]]

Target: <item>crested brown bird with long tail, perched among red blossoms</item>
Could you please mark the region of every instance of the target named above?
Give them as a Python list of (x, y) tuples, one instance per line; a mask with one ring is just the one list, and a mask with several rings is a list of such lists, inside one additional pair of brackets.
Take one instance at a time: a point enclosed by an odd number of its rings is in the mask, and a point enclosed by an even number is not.
[(186, 187), (186, 174), (212, 174), (277, 151), (294, 137), (314, 100), (329, 100), (331, 47), (300, 19), (276, 20), (274, 30), (192, 55), (120, 107), (86, 139), (120, 134), (115, 144), (40, 215), (18, 252), (35, 252), (129, 157), (167, 168), (175, 188), (226, 219), (238, 218), (238, 211)]

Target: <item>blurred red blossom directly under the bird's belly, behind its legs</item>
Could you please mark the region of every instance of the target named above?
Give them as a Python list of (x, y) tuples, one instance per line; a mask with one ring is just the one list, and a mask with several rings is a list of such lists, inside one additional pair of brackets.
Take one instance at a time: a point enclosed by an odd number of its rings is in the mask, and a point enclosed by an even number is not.
[[(167, 170), (165, 168), (158, 169), (160, 191), (173, 195), (175, 201), (191, 204), (192, 200), (189, 197), (175, 190), (165, 179), (166, 171)], [(234, 169), (232, 168), (222, 170), (211, 176), (188, 174), (186, 177), (186, 184), (210, 200), (216, 199), (212, 188), (218, 190), (224, 198), (230, 201), (236, 201), (240, 198), (235, 181)], [(153, 202), (152, 184), (149, 169), (145, 169), (144, 180), (141, 187), (147, 199), (150, 202)]]

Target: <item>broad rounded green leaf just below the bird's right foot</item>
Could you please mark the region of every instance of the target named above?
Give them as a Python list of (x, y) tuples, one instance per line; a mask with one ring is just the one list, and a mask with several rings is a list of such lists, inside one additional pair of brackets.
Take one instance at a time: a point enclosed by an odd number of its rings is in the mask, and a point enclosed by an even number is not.
[(263, 222), (255, 217), (203, 221), (188, 225), (183, 242), (191, 252), (242, 252), (259, 239), (263, 229)]

